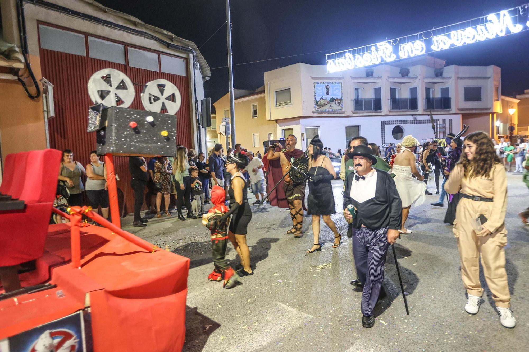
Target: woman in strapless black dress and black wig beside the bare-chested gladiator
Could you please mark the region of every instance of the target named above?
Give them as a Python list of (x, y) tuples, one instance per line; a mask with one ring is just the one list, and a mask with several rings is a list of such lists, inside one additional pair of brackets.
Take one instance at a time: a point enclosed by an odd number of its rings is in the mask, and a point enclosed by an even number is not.
[(311, 159), (308, 161), (308, 174), (312, 180), (308, 182), (308, 209), (307, 214), (312, 215), (312, 231), (314, 233), (314, 245), (307, 253), (321, 251), (320, 241), (320, 217), (334, 233), (333, 248), (340, 246), (342, 236), (336, 230), (336, 225), (331, 219), (331, 214), (336, 212), (334, 207), (334, 195), (331, 180), (336, 178), (334, 166), (327, 156), (323, 155), (323, 143), (315, 137), (308, 146)]

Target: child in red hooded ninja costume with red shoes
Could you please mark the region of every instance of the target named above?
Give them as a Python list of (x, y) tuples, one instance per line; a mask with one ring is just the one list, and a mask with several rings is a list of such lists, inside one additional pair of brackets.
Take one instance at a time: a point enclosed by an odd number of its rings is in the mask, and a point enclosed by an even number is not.
[(211, 231), (211, 249), (213, 255), (214, 270), (207, 277), (209, 281), (222, 281), (224, 274), (225, 289), (232, 288), (239, 280), (239, 275), (226, 263), (224, 258), (227, 246), (227, 228), (230, 217), (223, 217), (230, 208), (224, 205), (226, 193), (220, 186), (213, 186), (211, 190), (211, 202), (213, 206), (202, 215), (202, 224)]

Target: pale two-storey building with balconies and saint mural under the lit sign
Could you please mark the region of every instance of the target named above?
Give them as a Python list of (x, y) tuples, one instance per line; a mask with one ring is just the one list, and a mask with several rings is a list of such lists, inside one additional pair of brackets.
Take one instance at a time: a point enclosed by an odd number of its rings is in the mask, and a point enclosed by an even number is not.
[(372, 68), (326, 73), (325, 66), (297, 63), (265, 72), (268, 121), (277, 135), (289, 133), (305, 148), (320, 135), (332, 151), (362, 135), (384, 145), (411, 134), (419, 141), (459, 132), (494, 134), (501, 112), (498, 67), (444, 66), (432, 57), (403, 60)]

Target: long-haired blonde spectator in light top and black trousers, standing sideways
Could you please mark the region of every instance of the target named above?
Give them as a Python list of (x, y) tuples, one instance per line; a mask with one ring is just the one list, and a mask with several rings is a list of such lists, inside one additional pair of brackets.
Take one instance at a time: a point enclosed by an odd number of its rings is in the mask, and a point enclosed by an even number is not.
[(182, 214), (182, 206), (187, 208), (187, 218), (196, 219), (191, 210), (191, 178), (189, 176), (189, 168), (196, 168), (196, 166), (189, 166), (187, 162), (187, 148), (185, 146), (178, 147), (176, 152), (175, 163), (172, 165), (172, 172), (175, 175), (175, 186), (177, 191), (176, 208), (178, 210), (178, 219), (185, 221), (186, 218)]

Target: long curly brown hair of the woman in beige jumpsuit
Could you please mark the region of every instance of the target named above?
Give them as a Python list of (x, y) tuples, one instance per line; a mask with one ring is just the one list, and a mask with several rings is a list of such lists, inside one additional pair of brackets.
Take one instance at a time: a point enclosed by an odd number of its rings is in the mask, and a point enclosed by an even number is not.
[(463, 145), (463, 153), (461, 153), (458, 164), (463, 165), (464, 177), (489, 177), (494, 164), (501, 164), (501, 159), (496, 154), (489, 135), (480, 131), (472, 132), (464, 138), (463, 143), (467, 143), (467, 141), (476, 144), (476, 150), (474, 151), (474, 158), (468, 160)]

